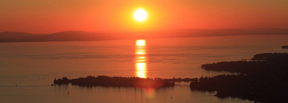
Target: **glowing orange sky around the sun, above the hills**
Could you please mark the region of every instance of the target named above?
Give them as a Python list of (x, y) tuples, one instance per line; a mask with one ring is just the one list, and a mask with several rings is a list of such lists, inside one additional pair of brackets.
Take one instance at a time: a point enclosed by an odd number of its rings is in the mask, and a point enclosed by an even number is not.
[[(144, 22), (133, 19), (143, 8)], [(288, 28), (288, 0), (0, 0), (0, 32)]]

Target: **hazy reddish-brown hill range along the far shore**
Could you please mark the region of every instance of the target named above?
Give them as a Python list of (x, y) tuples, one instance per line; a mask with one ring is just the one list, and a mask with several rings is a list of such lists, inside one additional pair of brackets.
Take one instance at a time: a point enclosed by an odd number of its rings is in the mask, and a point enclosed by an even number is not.
[(246, 28), (246, 29), (173, 29), (166, 31), (143, 32), (86, 32), (63, 31), (51, 34), (32, 34), (23, 32), (0, 32), (0, 42), (37, 42), (37, 41), (98, 41), (119, 39), (148, 39), (175, 37), (210, 37), (228, 35), (288, 35), (288, 29)]

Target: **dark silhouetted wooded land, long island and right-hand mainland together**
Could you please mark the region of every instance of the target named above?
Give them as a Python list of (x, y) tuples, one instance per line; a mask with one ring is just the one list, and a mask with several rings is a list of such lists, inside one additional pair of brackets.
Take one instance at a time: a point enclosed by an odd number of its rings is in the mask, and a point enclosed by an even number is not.
[(203, 64), (201, 68), (237, 72), (239, 75), (218, 75), (200, 78), (139, 78), (87, 76), (86, 78), (54, 80), (54, 84), (79, 86), (128, 86), (141, 88), (173, 87), (175, 82), (191, 82), (191, 90), (217, 91), (219, 98), (238, 97), (255, 102), (287, 102), (288, 53), (256, 54), (251, 61)]

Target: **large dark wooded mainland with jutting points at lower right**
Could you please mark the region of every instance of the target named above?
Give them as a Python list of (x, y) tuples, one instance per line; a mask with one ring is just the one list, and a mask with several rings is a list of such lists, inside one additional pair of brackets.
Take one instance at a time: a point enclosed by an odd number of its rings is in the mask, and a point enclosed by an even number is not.
[(257, 54), (251, 60), (204, 64), (205, 70), (239, 72), (191, 82), (192, 90), (217, 91), (215, 96), (239, 97), (260, 102), (288, 102), (287, 53)]

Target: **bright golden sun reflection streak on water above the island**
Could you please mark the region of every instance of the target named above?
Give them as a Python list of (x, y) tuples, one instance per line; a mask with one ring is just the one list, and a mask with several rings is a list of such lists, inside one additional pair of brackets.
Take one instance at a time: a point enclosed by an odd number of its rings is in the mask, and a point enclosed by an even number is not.
[(146, 66), (146, 41), (143, 39), (136, 40), (135, 47), (135, 71), (136, 76), (140, 78), (147, 78)]

